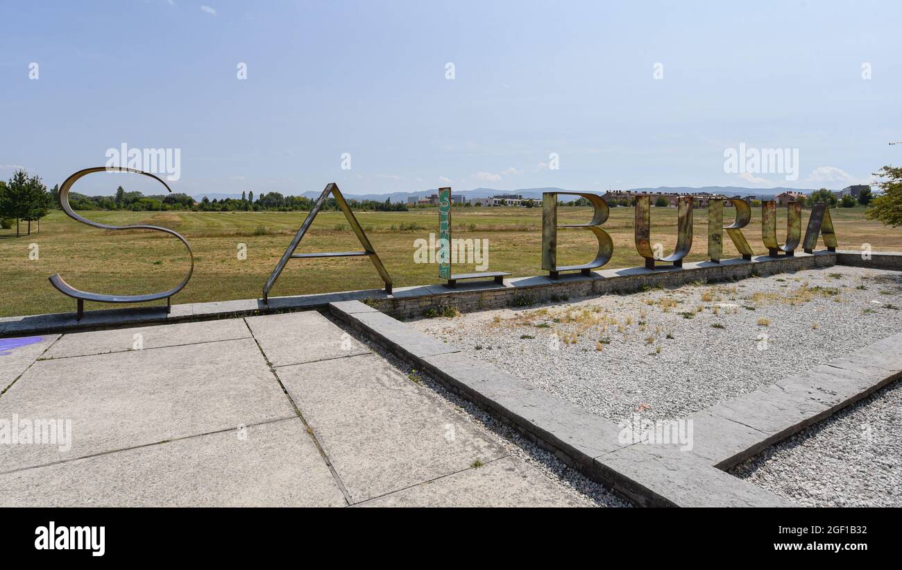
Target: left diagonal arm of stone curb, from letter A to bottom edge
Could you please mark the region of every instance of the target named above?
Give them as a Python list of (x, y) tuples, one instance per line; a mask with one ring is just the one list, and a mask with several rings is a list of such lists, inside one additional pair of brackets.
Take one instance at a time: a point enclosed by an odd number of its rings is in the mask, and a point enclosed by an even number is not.
[(530, 388), (492, 365), (423, 335), (359, 301), (330, 312), (517, 428), (565, 464), (642, 506), (788, 506), (776, 495), (672, 446), (621, 444), (621, 428), (546, 391)]

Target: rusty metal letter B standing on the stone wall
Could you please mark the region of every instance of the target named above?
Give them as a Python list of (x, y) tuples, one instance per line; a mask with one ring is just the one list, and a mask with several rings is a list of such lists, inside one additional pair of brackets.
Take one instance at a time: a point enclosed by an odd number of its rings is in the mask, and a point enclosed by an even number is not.
[[(592, 203), (594, 210), (592, 221), (588, 224), (557, 224), (557, 195), (579, 196)], [(582, 192), (544, 192), (542, 194), (542, 269), (548, 271), (552, 279), (557, 279), (560, 271), (580, 271), (588, 275), (589, 271), (601, 267), (611, 261), (614, 244), (611, 236), (605, 232), (601, 225), (607, 221), (611, 210), (608, 203), (597, 194), (584, 194)], [(595, 234), (598, 240), (598, 253), (592, 262), (582, 265), (557, 266), (557, 228), (558, 227), (584, 227)]]

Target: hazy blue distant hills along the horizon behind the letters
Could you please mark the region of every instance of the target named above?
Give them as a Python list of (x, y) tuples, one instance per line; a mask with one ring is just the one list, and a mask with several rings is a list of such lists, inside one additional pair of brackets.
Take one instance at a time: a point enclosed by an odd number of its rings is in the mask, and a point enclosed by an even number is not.
[[(724, 196), (736, 196), (737, 194), (740, 196), (757, 196), (759, 198), (770, 198), (777, 196), (778, 194), (782, 194), (783, 192), (802, 192), (804, 194), (811, 194), (817, 188), (787, 188), (778, 186), (775, 188), (745, 188), (741, 186), (702, 186), (698, 188), (693, 188), (689, 186), (658, 186), (657, 188), (629, 188), (630, 192), (648, 192), (651, 194), (654, 193), (665, 193), (665, 192), (676, 192), (678, 194), (697, 194), (700, 192), (708, 192), (709, 194), (723, 194)], [(542, 194), (545, 192), (566, 192), (564, 188), (520, 188), (516, 190), (498, 190), (495, 188), (474, 188), (472, 190), (461, 190), (455, 191), (456, 195), (463, 195), (466, 199), (470, 198), (490, 198), (492, 196), (496, 196), (498, 194), (520, 194), (523, 198), (542, 198)], [(585, 191), (585, 190), (569, 190), (569, 191)], [(300, 196), (305, 198), (317, 198), (322, 191), (313, 191), (308, 190), (306, 192), (302, 192)], [(386, 198), (391, 199), (392, 202), (407, 202), (407, 198), (417, 196), (420, 198), (426, 198), (430, 194), (436, 194), (438, 192), (437, 188), (431, 188), (426, 190), (420, 190), (419, 192), (388, 192), (384, 194), (345, 194), (345, 198), (354, 198), (356, 200), (376, 200), (379, 202), (384, 202)], [(254, 190), (254, 196), (260, 196), (260, 193)], [(282, 194), (290, 194), (286, 192), (282, 192)], [(604, 192), (595, 192), (595, 194), (604, 194)], [(217, 199), (221, 200), (223, 198), (235, 198), (240, 199), (241, 194), (224, 194), (220, 192), (207, 192), (205, 194), (195, 194), (194, 199), (201, 200), (204, 197), (209, 199)], [(566, 197), (562, 197), (566, 199)]]

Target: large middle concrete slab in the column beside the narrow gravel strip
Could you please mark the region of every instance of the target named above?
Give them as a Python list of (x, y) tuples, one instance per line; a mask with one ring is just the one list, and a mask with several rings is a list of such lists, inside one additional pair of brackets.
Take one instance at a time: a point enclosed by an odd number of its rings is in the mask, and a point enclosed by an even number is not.
[(353, 502), (507, 455), (375, 354), (287, 366), (278, 374)]

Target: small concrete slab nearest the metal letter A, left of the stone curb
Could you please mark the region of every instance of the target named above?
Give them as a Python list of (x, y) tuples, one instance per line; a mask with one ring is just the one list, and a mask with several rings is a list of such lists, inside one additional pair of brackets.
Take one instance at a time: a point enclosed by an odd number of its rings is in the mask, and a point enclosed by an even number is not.
[(246, 320), (273, 366), (370, 352), (317, 311), (247, 317)]

